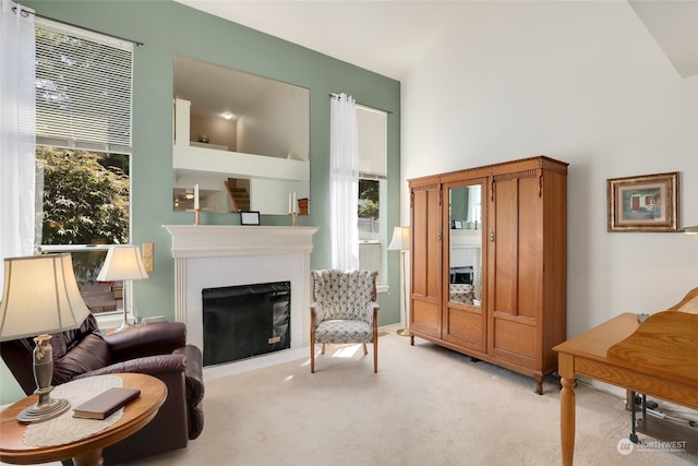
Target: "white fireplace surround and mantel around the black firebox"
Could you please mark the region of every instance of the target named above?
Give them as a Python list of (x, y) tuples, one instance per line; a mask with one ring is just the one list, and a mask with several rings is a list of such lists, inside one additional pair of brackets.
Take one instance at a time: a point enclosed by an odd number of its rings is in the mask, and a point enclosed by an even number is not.
[(165, 225), (172, 236), (174, 318), (204, 347), (204, 288), (291, 282), (291, 348), (310, 345), (314, 227)]

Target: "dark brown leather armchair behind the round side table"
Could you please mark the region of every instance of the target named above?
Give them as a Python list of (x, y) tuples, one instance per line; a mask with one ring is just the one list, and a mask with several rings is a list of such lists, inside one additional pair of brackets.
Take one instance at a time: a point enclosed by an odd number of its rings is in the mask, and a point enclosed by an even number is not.
[[(32, 370), (32, 338), (2, 342), (0, 353), (22, 390), (36, 383)], [(53, 380), (119, 372), (146, 373), (165, 382), (167, 399), (142, 430), (104, 450), (104, 464), (120, 464), (186, 446), (204, 427), (202, 354), (186, 345), (186, 327), (163, 322), (103, 336), (91, 314), (80, 328), (53, 334)]]

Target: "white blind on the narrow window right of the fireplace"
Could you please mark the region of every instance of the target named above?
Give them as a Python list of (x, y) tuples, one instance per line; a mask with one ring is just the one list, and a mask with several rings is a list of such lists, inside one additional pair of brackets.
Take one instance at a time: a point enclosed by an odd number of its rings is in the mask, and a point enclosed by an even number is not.
[(387, 121), (385, 111), (357, 105), (360, 178), (387, 178)]

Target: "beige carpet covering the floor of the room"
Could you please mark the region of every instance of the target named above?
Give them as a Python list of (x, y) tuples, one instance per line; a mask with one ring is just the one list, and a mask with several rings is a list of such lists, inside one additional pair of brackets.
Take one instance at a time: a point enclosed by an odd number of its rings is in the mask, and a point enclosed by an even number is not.
[[(558, 465), (559, 389), (386, 328), (371, 347), (207, 380), (202, 435), (131, 465)], [(693, 465), (662, 449), (621, 455), (629, 414), (616, 396), (577, 391), (576, 465)], [(640, 439), (645, 439), (640, 437)]]

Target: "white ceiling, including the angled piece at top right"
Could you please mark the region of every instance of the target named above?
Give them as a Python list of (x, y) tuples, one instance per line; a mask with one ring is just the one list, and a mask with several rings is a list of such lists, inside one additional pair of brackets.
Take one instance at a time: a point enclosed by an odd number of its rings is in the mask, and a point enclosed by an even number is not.
[[(467, 0), (176, 0), (401, 80)], [(684, 77), (698, 74), (698, 0), (628, 3)]]

